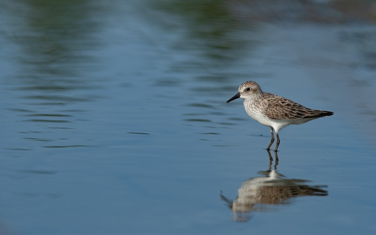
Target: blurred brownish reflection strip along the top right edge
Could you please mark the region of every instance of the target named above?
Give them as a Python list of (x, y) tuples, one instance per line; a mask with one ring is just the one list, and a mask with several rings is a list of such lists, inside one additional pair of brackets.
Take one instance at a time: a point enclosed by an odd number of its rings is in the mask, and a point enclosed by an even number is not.
[(376, 20), (374, 0), (233, 0), (235, 15), (248, 21), (337, 24)]

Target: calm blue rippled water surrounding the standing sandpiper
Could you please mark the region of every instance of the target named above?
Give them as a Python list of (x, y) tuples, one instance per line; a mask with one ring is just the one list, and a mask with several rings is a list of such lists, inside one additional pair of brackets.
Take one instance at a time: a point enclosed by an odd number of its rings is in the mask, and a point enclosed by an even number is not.
[[(375, 232), (373, 24), (47, 2), (0, 4), (2, 234)], [(335, 115), (282, 130), (270, 165), (268, 127), (226, 104), (246, 80)], [(327, 195), (231, 211), (269, 168)]]

